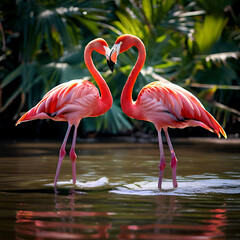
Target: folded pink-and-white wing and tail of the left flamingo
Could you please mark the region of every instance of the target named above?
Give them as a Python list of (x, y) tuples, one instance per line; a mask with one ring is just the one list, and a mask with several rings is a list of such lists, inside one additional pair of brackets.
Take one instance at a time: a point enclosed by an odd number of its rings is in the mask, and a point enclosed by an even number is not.
[(16, 125), (23, 121), (47, 118), (70, 121), (74, 124), (74, 121), (91, 116), (98, 98), (98, 89), (87, 80), (62, 83), (47, 92), (35, 107), (18, 120)]

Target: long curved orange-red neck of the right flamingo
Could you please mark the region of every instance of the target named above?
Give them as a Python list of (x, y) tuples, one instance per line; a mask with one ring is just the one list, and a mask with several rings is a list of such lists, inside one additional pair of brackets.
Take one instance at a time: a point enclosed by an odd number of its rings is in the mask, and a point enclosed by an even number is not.
[(138, 58), (123, 88), (121, 95), (121, 107), (123, 112), (128, 116), (140, 119), (141, 113), (138, 111), (136, 102), (134, 102), (132, 99), (132, 92), (137, 77), (144, 65), (146, 51), (142, 41), (140, 41), (138, 38), (134, 39), (133, 43), (131, 44), (131, 47), (132, 46), (135, 46), (138, 49)]

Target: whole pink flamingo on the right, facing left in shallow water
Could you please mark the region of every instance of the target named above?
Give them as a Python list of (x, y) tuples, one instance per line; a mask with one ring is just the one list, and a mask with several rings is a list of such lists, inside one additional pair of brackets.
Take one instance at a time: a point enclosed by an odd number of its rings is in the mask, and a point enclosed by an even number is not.
[(141, 71), (146, 51), (143, 42), (136, 36), (124, 34), (116, 40), (108, 60), (108, 66), (113, 71), (120, 53), (135, 46), (138, 50), (138, 58), (132, 69), (121, 95), (121, 107), (123, 112), (131, 118), (152, 122), (158, 132), (160, 164), (158, 188), (162, 188), (162, 178), (166, 166), (161, 131), (164, 130), (168, 147), (171, 153), (171, 168), (173, 187), (178, 186), (176, 179), (177, 158), (168, 135), (167, 128), (185, 128), (200, 126), (220, 137), (220, 133), (227, 135), (214, 117), (207, 112), (200, 101), (184, 88), (170, 83), (161, 78), (159, 81), (147, 84), (139, 92), (136, 101), (132, 100), (134, 83)]

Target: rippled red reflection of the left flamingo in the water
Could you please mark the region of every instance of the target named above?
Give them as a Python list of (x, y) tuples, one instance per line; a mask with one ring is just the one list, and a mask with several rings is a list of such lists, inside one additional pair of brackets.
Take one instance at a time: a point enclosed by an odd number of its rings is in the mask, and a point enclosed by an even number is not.
[[(22, 237), (35, 237), (36, 239), (107, 239), (111, 223), (86, 224), (88, 217), (106, 217), (111, 212), (89, 212), (84, 209), (92, 205), (75, 205), (75, 191), (71, 191), (63, 201), (55, 196), (56, 211), (17, 211), (16, 232), (17, 239)], [(70, 210), (69, 210), (70, 208)], [(77, 209), (78, 208), (78, 209)], [(81, 209), (81, 210), (79, 210)]]

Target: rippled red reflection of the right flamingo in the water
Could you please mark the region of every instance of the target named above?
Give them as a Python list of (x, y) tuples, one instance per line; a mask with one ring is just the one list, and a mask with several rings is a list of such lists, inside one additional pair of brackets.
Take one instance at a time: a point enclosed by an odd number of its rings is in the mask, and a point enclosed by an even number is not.
[[(146, 225), (123, 225), (120, 229), (118, 239), (212, 239), (212, 238), (224, 238), (225, 234), (223, 227), (227, 224), (226, 209), (212, 209), (210, 210), (211, 218), (203, 222), (201, 225), (194, 224), (182, 224), (174, 223), (172, 217), (180, 215), (179, 212), (175, 212), (177, 207), (177, 200), (175, 197), (171, 198), (171, 204), (159, 204), (163, 203), (162, 197), (158, 197), (158, 207), (156, 215), (159, 217), (160, 222)], [(170, 206), (172, 209), (170, 212), (166, 208)], [(173, 208), (172, 208), (173, 207)], [(175, 208), (176, 207), (176, 208)], [(175, 210), (174, 210), (175, 209)], [(166, 216), (169, 213), (169, 217)], [(212, 214), (214, 213), (214, 214)], [(160, 217), (161, 216), (161, 217)]]

